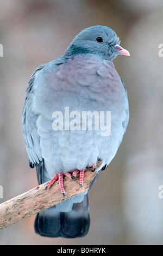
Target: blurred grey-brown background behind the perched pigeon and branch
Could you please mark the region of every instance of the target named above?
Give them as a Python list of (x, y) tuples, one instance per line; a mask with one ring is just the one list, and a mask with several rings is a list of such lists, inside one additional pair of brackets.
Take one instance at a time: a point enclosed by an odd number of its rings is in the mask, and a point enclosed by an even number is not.
[(34, 233), (33, 216), (1, 230), (0, 245), (163, 245), (162, 0), (0, 0), (0, 203), (37, 185), (21, 128), (30, 76), (95, 25), (114, 29), (130, 52), (114, 60), (130, 120), (117, 155), (89, 192), (89, 234), (43, 238)]

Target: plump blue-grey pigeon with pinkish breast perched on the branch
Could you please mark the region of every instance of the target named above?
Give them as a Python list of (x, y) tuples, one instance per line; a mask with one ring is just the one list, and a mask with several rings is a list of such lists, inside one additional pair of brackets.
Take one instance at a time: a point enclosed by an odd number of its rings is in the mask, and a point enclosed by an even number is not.
[[(118, 54), (130, 55), (116, 33), (92, 26), (61, 57), (37, 67), (28, 82), (22, 130), (29, 165), (47, 190), (59, 180), (65, 198), (64, 176), (73, 186), (79, 175), (80, 190), (86, 168), (98, 175), (106, 169), (126, 132), (127, 90), (112, 63)], [(83, 237), (89, 227), (88, 191), (41, 211), (34, 222), (35, 232), (45, 237)]]

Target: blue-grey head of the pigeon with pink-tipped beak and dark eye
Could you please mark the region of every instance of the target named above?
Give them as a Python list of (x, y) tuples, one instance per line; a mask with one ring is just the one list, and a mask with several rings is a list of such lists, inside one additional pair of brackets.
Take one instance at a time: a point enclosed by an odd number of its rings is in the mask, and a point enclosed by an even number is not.
[(103, 59), (111, 60), (118, 54), (130, 56), (129, 52), (120, 46), (120, 39), (109, 27), (93, 26), (84, 29), (71, 42), (66, 54), (92, 53)]

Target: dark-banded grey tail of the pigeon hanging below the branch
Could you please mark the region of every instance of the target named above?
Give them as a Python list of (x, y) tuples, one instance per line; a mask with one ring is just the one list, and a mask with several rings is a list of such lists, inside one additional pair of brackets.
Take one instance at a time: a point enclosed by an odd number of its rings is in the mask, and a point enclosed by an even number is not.
[[(43, 161), (36, 165), (37, 179), (39, 185), (49, 180)], [(69, 202), (68, 202), (69, 201)], [(89, 231), (90, 215), (89, 200), (87, 193), (82, 202), (72, 203), (72, 199), (66, 200), (71, 205), (70, 211), (65, 206), (52, 206), (36, 215), (34, 222), (35, 233), (46, 237), (83, 237)], [(63, 202), (64, 203), (64, 202)]]

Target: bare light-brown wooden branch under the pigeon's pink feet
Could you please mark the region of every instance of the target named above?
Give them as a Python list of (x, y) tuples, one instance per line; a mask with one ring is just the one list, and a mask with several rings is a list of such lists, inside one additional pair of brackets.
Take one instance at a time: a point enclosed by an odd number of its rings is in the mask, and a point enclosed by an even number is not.
[[(101, 166), (101, 163), (102, 161), (97, 163), (97, 168)], [(48, 190), (45, 190), (48, 183), (45, 182), (26, 193), (0, 204), (0, 229), (7, 228), (55, 204), (77, 196), (85, 190), (89, 190), (91, 181), (98, 176), (98, 173), (92, 172), (92, 170), (93, 168), (86, 170), (82, 188), (79, 186), (79, 175), (76, 176), (75, 181), (72, 181), (67, 176), (64, 177), (66, 199), (62, 196), (58, 181), (56, 181)]]

